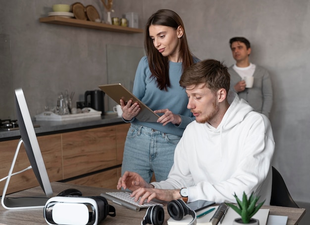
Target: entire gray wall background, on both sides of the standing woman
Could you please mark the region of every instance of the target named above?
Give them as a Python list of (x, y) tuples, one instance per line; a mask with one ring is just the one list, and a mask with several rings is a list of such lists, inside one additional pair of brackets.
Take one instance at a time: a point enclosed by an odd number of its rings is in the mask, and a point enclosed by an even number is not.
[[(0, 2), (0, 34), (9, 35), (11, 42), (12, 88), (23, 87), (32, 115), (42, 112), (65, 89), (75, 91), (77, 97), (105, 83), (107, 44), (143, 47), (142, 34), (39, 23), (39, 17), (51, 11), (53, 0)], [(81, 2), (101, 6), (100, 0)], [(229, 39), (250, 40), (251, 61), (267, 68), (273, 82), (273, 165), (293, 198), (310, 202), (310, 98), (305, 92), (310, 84), (310, 1), (115, 0), (114, 5), (115, 16), (138, 12), (141, 28), (155, 10), (175, 10), (185, 23), (191, 50), (201, 59), (231, 65)]]

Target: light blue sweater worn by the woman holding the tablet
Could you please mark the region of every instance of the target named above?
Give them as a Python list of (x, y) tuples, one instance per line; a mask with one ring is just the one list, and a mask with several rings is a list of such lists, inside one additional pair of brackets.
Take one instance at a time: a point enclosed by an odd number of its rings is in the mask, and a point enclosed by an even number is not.
[[(194, 62), (199, 59), (194, 57)], [(134, 81), (133, 94), (146, 104), (150, 109), (169, 109), (174, 114), (179, 114), (182, 122), (179, 125), (169, 122), (165, 126), (157, 122), (142, 122), (134, 118), (130, 122), (141, 124), (161, 131), (163, 133), (182, 136), (187, 124), (195, 120), (193, 114), (187, 109), (188, 97), (185, 89), (180, 87), (179, 81), (182, 75), (182, 62), (169, 62), (169, 78), (171, 86), (168, 91), (160, 90), (157, 87), (154, 77), (151, 77), (151, 70), (147, 56), (141, 58)]]

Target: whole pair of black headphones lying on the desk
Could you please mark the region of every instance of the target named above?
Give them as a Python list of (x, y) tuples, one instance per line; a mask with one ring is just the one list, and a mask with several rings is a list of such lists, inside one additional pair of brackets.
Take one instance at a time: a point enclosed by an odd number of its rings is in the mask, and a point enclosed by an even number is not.
[[(189, 223), (189, 225), (196, 225), (197, 219), (196, 219), (196, 213), (194, 210), (191, 210), (186, 203), (181, 200), (172, 200), (168, 202), (167, 210), (170, 215), (170, 217), (173, 220), (180, 221), (185, 217), (186, 215), (191, 215), (193, 217), (193, 220)], [(141, 222), (141, 225), (162, 225), (164, 222), (164, 211), (162, 206), (151, 206), (148, 208), (143, 221)]]

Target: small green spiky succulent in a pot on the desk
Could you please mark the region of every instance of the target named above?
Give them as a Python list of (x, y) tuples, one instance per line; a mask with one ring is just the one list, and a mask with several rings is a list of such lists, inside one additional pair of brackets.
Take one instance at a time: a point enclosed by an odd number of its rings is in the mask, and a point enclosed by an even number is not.
[(242, 201), (237, 197), (236, 193), (234, 194), (234, 197), (237, 200), (239, 207), (231, 203), (227, 203), (227, 205), (230, 206), (233, 210), (235, 210), (241, 216), (241, 218), (235, 219), (233, 225), (259, 225), (259, 221), (252, 217), (258, 212), (259, 208), (262, 206), (262, 204), (264, 204), (265, 200), (256, 205), (259, 196), (254, 196), (253, 192), (249, 199), (246, 193), (243, 192)]

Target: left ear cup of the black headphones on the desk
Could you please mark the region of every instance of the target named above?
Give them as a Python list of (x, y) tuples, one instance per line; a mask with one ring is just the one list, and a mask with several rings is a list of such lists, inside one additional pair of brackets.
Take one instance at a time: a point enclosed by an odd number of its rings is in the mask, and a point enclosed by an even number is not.
[(153, 224), (162, 225), (165, 218), (165, 213), (162, 206), (151, 206), (148, 208), (141, 225)]

